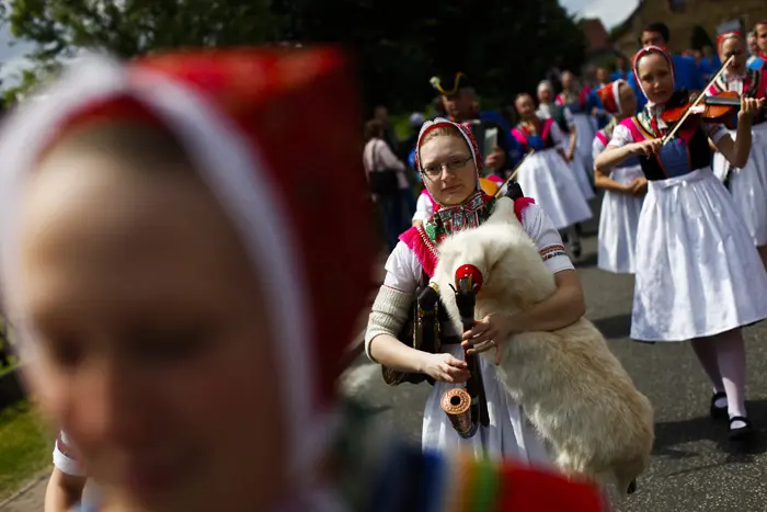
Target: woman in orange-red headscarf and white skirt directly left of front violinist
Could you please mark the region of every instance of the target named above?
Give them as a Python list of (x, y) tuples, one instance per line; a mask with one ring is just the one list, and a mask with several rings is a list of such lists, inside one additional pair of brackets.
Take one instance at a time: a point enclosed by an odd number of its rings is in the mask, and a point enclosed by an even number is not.
[[(594, 160), (605, 150), (618, 123), (637, 111), (637, 95), (626, 80), (608, 83), (596, 93), (605, 111), (614, 117), (594, 137)], [(597, 266), (607, 272), (633, 274), (637, 269), (634, 246), (639, 213), (648, 190), (648, 180), (642, 174), (639, 157), (626, 159), (609, 174), (594, 171), (594, 184), (605, 190), (599, 215)]]

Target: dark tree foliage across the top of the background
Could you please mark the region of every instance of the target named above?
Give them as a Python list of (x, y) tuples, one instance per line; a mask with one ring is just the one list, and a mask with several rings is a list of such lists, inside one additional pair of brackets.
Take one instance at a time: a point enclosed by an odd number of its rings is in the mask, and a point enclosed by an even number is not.
[(428, 78), (465, 71), (484, 99), (531, 91), (557, 56), (577, 70), (582, 33), (557, 0), (10, 0), (0, 18), (47, 62), (80, 48), (124, 58), (185, 46), (341, 43), (368, 103), (421, 107)]

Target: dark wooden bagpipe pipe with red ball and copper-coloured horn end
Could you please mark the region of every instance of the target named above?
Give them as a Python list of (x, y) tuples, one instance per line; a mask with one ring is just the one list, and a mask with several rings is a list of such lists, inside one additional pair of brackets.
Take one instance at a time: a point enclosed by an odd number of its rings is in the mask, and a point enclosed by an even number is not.
[[(456, 271), (456, 306), (460, 314), (463, 332), (474, 327), (474, 307), (477, 294), (482, 288), (482, 273), (474, 265), (461, 265)], [(472, 437), (479, 425), (490, 424), (488, 400), (482, 384), (479, 356), (466, 354), (466, 363), (471, 376), (465, 388), (454, 388), (443, 394), (440, 405), (458, 435)]]

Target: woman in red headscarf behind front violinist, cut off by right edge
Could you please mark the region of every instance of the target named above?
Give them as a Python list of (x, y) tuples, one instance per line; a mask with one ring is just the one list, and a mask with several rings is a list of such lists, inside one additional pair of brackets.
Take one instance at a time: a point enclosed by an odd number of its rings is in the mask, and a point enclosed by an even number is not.
[[(717, 38), (719, 57), (732, 61), (724, 72), (706, 90), (708, 95), (734, 92), (746, 98), (767, 95), (767, 71), (746, 68), (748, 50), (740, 32), (728, 32)], [(764, 101), (764, 100), (763, 100)], [(735, 136), (737, 114), (724, 118), (730, 135)], [(743, 168), (734, 168), (721, 152), (713, 157), (713, 172), (724, 182), (735, 200), (735, 208), (746, 223), (762, 261), (767, 265), (767, 111), (754, 113), (752, 118), (752, 149)]]

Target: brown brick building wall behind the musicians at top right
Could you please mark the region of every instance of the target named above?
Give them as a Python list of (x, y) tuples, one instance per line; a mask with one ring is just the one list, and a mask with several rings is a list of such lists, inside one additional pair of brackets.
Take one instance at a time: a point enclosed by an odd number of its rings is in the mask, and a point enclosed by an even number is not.
[(706, 29), (714, 41), (717, 27), (724, 22), (740, 20), (749, 31), (756, 21), (765, 19), (767, 0), (641, 0), (631, 18), (614, 32), (613, 41), (619, 52), (630, 57), (638, 49), (642, 27), (662, 21), (672, 34), (668, 46), (679, 53), (690, 47), (695, 25)]

